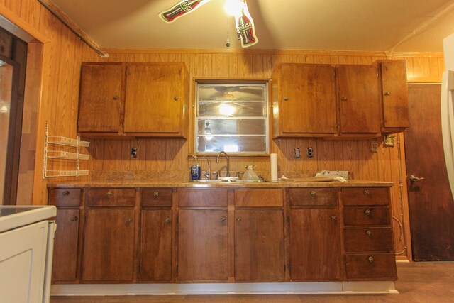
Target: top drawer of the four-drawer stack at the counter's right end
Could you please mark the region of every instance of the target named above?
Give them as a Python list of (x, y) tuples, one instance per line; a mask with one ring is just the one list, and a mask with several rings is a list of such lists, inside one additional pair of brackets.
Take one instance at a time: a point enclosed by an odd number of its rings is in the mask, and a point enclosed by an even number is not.
[(389, 205), (389, 188), (343, 188), (341, 198), (343, 205)]

